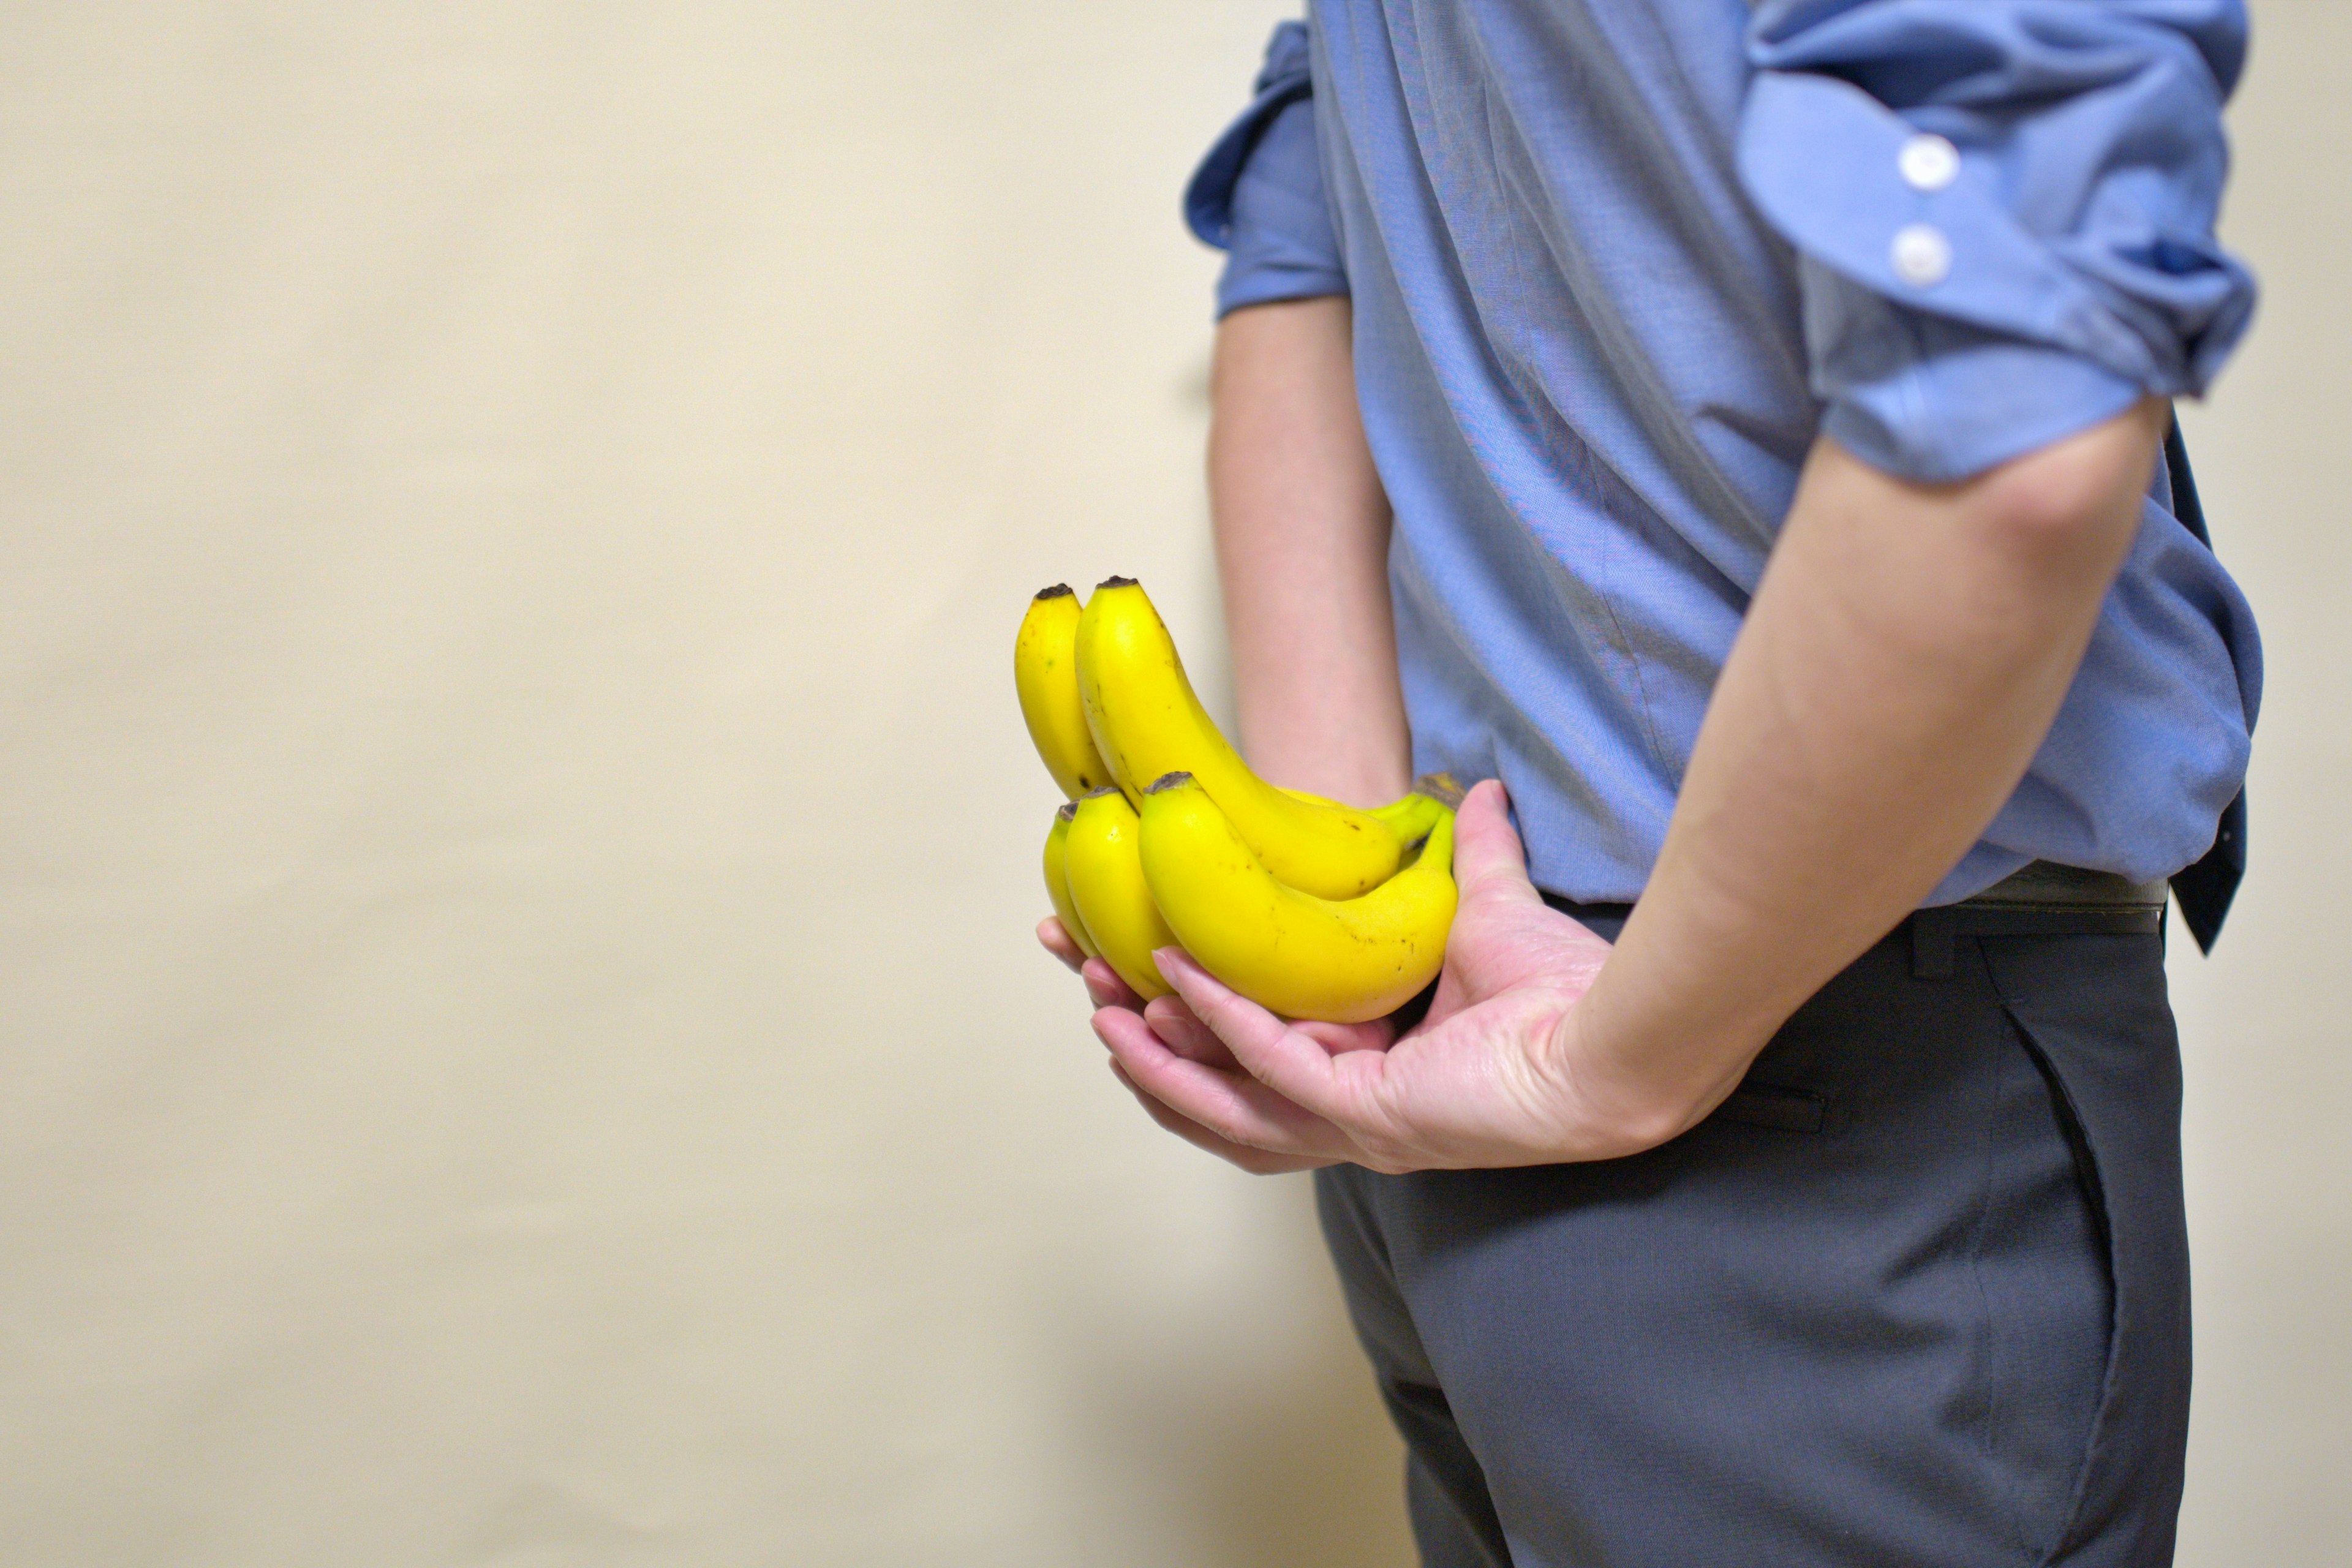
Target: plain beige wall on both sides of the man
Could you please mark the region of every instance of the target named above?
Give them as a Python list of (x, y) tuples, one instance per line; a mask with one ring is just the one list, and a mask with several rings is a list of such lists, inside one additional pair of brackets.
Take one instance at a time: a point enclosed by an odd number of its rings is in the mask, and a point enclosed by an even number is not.
[[(1284, 9), (16, 7), (0, 1561), (1406, 1561), (1305, 1187), (1030, 947), (1007, 679), (1108, 571), (1218, 679), (1176, 190)], [(2263, 24), (2201, 1568), (2352, 1533), (2352, 26)]]

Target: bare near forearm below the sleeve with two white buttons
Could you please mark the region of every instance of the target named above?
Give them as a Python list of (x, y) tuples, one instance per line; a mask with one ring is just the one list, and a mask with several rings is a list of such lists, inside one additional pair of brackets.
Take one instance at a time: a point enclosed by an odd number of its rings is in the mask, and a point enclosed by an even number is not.
[(1917, 487), (1823, 442), (1576, 1039), (1696, 1114), (1983, 835), (2138, 531), (2161, 404)]

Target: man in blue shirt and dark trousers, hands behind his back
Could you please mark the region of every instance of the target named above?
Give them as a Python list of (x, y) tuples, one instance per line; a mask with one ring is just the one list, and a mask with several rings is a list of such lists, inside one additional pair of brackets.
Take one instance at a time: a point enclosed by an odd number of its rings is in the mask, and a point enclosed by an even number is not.
[(2241, 52), (1317, 0), (1195, 181), (1244, 748), (1494, 783), (1402, 1032), (1087, 980), (1152, 1119), (1317, 1171), (1430, 1563), (2171, 1561), (2161, 879), (2209, 940), (2260, 675), (2159, 444)]

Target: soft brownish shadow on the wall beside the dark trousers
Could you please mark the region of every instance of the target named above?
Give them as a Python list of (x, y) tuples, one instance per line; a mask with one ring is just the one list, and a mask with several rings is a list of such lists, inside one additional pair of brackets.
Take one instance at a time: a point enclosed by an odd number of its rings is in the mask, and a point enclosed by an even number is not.
[(1061, 1359), (1070, 1436), (1129, 1509), (1098, 1519), (1108, 1540), (1084, 1542), (1087, 1561), (1134, 1561), (1136, 1540), (1202, 1568), (1418, 1561), (1402, 1446), (1348, 1326), (1312, 1185), (1284, 1175), (1261, 1190), (1263, 1225), (1225, 1274), (1247, 1281), (1247, 1300), (1169, 1305), (1117, 1340), (1077, 1333)]

